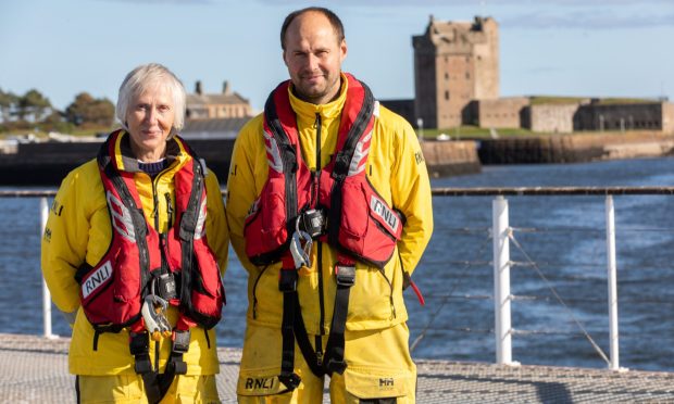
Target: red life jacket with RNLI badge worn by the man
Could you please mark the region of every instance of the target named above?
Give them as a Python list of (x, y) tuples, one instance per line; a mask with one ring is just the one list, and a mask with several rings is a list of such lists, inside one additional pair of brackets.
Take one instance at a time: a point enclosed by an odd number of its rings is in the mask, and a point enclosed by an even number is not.
[[(265, 265), (287, 256), (298, 219), (310, 210), (326, 212), (319, 239), (348, 257), (384, 267), (402, 232), (401, 215), (367, 180), (365, 166), (374, 126), (375, 102), (367, 86), (351, 75), (341, 112), (337, 147), (329, 163), (311, 172), (301, 157), (296, 114), (282, 83), (264, 108), (269, 178), (245, 226), (246, 253)], [(319, 125), (320, 127), (320, 125)], [(320, 130), (320, 129), (319, 129)], [(316, 162), (320, 165), (320, 162)]]

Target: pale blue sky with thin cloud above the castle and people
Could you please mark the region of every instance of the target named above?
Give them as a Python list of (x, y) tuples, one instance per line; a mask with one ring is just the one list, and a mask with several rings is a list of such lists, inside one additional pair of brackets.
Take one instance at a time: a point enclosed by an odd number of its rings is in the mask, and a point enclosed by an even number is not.
[(0, 0), (0, 88), (37, 88), (59, 109), (80, 91), (114, 102), (128, 71), (159, 62), (188, 91), (229, 80), (260, 110), (287, 78), (283, 18), (307, 5), (341, 17), (344, 68), (379, 99), (414, 96), (411, 37), (433, 14), (497, 20), (503, 97), (674, 101), (674, 0)]

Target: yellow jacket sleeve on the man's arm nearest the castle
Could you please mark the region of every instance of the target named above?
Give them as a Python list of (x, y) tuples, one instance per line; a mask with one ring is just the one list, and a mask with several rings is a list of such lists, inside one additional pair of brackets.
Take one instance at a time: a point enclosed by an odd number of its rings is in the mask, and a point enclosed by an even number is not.
[(414, 129), (403, 122), (401, 130), (402, 136), (395, 137), (391, 197), (405, 218), (398, 252), (403, 270), (412, 275), (433, 233), (433, 206), (428, 171)]

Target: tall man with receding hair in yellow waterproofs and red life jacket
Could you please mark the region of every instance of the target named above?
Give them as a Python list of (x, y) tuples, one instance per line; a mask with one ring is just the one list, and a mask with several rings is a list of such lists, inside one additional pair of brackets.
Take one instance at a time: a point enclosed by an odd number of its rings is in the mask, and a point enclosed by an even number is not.
[(239, 402), (413, 403), (402, 290), (433, 231), (411, 126), (341, 73), (329, 10), (282, 27), (290, 80), (236, 141), (230, 239), (249, 273)]

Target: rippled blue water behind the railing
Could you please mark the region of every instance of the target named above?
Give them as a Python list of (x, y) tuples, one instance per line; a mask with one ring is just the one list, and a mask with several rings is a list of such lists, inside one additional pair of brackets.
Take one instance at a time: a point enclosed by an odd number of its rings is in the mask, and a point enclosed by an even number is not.
[[(437, 179), (434, 187), (672, 186), (673, 159), (570, 165), (488, 166)], [(435, 232), (414, 273), (422, 307), (405, 292), (415, 357), (495, 362), (491, 197), (434, 198)], [(603, 197), (509, 197), (513, 361), (607, 367), (582, 328), (609, 354)], [(619, 267), (620, 363), (674, 371), (673, 197), (614, 197)], [(0, 219), (2, 332), (41, 333), (39, 201), (3, 199)], [(542, 280), (542, 277), (547, 281)], [(10, 280), (13, 283), (10, 283)], [(225, 277), (227, 306), (219, 343), (241, 346), (246, 275), (236, 255)], [(563, 299), (558, 302), (550, 285)], [(465, 299), (467, 296), (469, 299)], [(53, 332), (70, 328), (54, 307)], [(582, 328), (578, 326), (581, 324)], [(425, 330), (425, 331), (424, 331)], [(523, 331), (523, 332), (520, 332)]]

